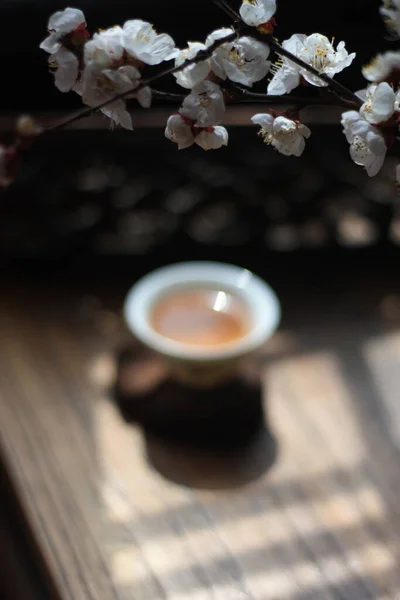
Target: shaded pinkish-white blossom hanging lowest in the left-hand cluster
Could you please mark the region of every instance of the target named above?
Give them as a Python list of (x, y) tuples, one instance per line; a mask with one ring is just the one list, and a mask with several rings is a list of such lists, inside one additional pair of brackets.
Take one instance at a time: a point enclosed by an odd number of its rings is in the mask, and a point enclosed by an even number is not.
[[(82, 89), (78, 91), (82, 95), (84, 104), (97, 106), (111, 99), (115, 94), (127, 92), (137, 87), (140, 83), (140, 72), (131, 65), (125, 65), (118, 69), (98, 70), (87, 66), (85, 68)], [(148, 108), (151, 103), (151, 90), (143, 88), (137, 94), (133, 91), (127, 98), (136, 97), (141, 106)], [(126, 110), (125, 100), (115, 100), (101, 111), (109, 117), (116, 125), (125, 129), (132, 129), (132, 119)]]

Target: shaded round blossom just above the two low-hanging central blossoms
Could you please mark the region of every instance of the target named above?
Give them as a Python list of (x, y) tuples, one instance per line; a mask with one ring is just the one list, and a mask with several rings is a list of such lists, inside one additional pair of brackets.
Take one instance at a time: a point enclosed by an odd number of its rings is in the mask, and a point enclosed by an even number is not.
[(186, 96), (179, 111), (191, 119), (197, 127), (210, 127), (221, 122), (225, 113), (225, 102), (219, 85), (213, 81), (202, 81)]

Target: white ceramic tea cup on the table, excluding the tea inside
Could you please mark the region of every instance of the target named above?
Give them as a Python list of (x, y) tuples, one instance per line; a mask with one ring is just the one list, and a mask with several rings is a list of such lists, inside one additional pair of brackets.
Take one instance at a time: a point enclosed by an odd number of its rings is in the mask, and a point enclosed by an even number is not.
[[(164, 296), (204, 288), (232, 294), (241, 301), (249, 316), (243, 337), (222, 344), (195, 345), (155, 331), (151, 316)], [(280, 313), (278, 298), (267, 283), (247, 269), (217, 262), (183, 262), (157, 269), (135, 283), (124, 306), (134, 336), (164, 357), (174, 375), (204, 386), (231, 375), (239, 360), (263, 346), (276, 330)]]

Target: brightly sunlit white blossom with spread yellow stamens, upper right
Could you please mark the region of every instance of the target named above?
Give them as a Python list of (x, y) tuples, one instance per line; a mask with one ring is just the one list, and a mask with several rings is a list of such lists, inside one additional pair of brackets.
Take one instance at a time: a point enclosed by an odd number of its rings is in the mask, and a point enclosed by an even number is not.
[[(320, 73), (325, 73), (329, 77), (343, 71), (353, 62), (355, 57), (354, 52), (352, 54), (347, 52), (344, 42), (339, 42), (335, 50), (328, 38), (320, 33), (313, 33), (309, 36), (294, 34), (289, 40), (283, 42), (282, 46)], [(316, 75), (302, 69), (289, 59), (283, 58), (282, 66), (275, 73), (268, 86), (268, 93), (281, 95), (282, 93), (291, 92), (299, 85), (300, 76), (317, 87), (328, 85)]]

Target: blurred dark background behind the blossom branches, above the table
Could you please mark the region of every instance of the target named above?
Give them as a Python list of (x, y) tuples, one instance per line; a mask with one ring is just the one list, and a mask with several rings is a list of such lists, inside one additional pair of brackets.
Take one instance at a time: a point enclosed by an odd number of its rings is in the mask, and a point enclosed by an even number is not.
[[(280, 0), (278, 5), (280, 39), (318, 31), (336, 42), (345, 40), (349, 52), (357, 52), (353, 65), (339, 75), (354, 90), (365, 86), (361, 65), (393, 48), (385, 39), (378, 0), (323, 6), (314, 0)], [(39, 49), (49, 15), (64, 7), (58, 0), (2, 2), (0, 55), (7, 85), (0, 127), (5, 140), (21, 111), (52, 123), (81, 106), (78, 96), (54, 87), (47, 55)], [(180, 46), (187, 37), (204, 39), (213, 28), (229, 24), (211, 0), (82, 0), (79, 7), (91, 31), (143, 18)], [(18, 181), (0, 192), (2, 260), (86, 268), (93, 261), (120, 264), (125, 258), (146, 270), (144, 265), (185, 258), (256, 267), (266, 255), (309, 265), (327, 257), (341, 261), (343, 252), (362, 261), (377, 252), (390, 261), (397, 252), (394, 158), (377, 178), (368, 178), (348, 156), (340, 112), (307, 111), (312, 137), (300, 159), (288, 159), (265, 147), (246, 126), (259, 110), (248, 106), (227, 115), (228, 148), (178, 152), (163, 134), (173, 110), (157, 103), (149, 111), (134, 109), (134, 133), (110, 132), (106, 119), (96, 117), (76, 130), (43, 136)]]

